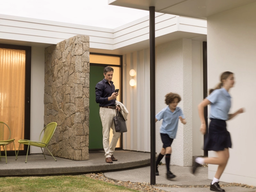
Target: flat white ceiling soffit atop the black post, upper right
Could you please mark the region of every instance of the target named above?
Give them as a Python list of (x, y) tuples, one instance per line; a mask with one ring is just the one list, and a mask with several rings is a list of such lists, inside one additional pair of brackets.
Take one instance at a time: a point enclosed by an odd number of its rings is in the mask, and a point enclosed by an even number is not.
[(206, 19), (207, 17), (240, 7), (256, 0), (108, 0), (108, 4), (134, 9), (149, 10), (155, 6), (156, 12)]

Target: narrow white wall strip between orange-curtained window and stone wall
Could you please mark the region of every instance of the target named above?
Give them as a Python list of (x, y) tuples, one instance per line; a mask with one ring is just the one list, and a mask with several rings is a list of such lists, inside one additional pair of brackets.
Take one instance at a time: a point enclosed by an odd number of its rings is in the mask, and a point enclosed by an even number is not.
[[(44, 128), (44, 48), (31, 48), (31, 123), (30, 139), (38, 141)], [(31, 153), (42, 153), (31, 146)]]

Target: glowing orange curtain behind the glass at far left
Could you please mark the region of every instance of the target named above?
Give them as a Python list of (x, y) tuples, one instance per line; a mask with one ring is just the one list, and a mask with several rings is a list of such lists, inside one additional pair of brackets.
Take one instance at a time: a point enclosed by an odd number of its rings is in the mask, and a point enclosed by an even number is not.
[[(25, 55), (24, 50), (0, 48), (0, 121), (10, 127), (16, 150), (24, 139)], [(13, 144), (7, 146), (14, 150)]]

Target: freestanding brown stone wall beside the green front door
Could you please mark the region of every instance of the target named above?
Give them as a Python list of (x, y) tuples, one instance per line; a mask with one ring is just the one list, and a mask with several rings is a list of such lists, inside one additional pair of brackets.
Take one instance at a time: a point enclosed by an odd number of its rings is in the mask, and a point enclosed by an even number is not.
[(89, 70), (88, 36), (45, 49), (44, 124), (57, 122), (48, 147), (53, 156), (89, 159)]

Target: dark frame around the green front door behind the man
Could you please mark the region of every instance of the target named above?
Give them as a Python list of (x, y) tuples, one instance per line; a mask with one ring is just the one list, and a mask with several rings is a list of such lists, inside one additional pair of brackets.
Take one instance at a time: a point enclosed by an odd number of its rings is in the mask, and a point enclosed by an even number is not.
[[(104, 54), (104, 53), (94, 53), (94, 52), (90, 52), (90, 54), (92, 55), (104, 55), (104, 56), (114, 56), (114, 57), (119, 57), (120, 58), (120, 65), (112, 65), (112, 64), (99, 64), (99, 63), (90, 63), (90, 66), (103, 66), (103, 67), (107, 67), (107, 66), (113, 66), (113, 67), (120, 67), (121, 69), (121, 73), (120, 73), (120, 89), (123, 90), (123, 55), (114, 55), (114, 54)], [(123, 102), (123, 92), (119, 92), (120, 94), (120, 102)], [(91, 98), (90, 98), (91, 99)], [(90, 108), (90, 106), (89, 106)], [(89, 127), (90, 129), (90, 127)], [(90, 134), (90, 132), (89, 132)], [(121, 133), (120, 135), (120, 147), (117, 147), (116, 150), (118, 149), (123, 149), (123, 133)], [(102, 149), (89, 149), (89, 151), (99, 151), (99, 150), (104, 150)]]

